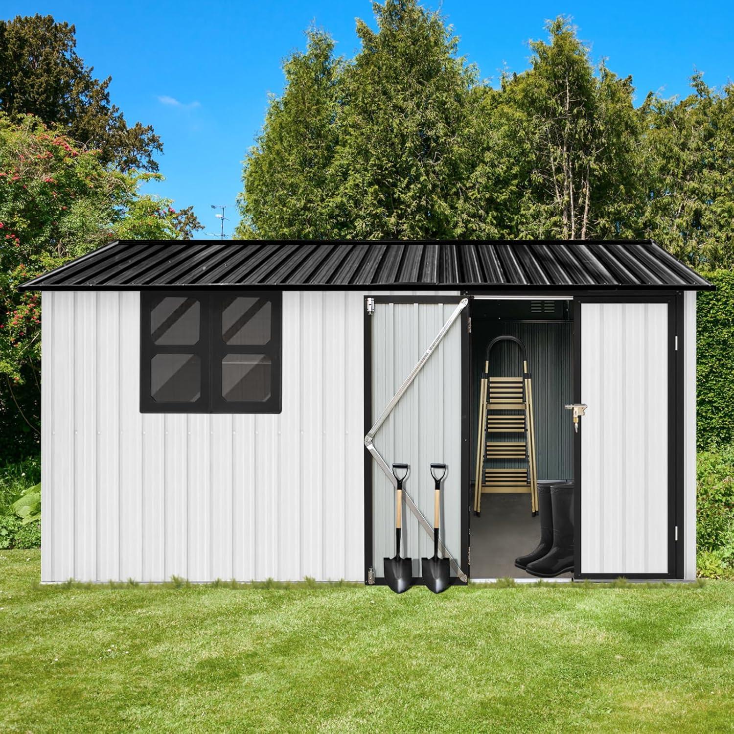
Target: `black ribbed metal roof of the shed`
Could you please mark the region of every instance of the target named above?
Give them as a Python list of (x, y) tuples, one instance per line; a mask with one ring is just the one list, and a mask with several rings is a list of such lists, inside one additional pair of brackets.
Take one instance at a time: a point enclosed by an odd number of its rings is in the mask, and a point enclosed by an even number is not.
[(653, 241), (117, 241), (24, 290), (625, 288), (711, 284)]

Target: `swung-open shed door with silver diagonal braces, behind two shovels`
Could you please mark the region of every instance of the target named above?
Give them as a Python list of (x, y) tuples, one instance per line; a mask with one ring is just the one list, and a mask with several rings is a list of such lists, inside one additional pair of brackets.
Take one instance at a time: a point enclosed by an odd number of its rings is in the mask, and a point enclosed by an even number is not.
[[(366, 299), (366, 582), (384, 582), (395, 555), (393, 462), (410, 465), (404, 486), (401, 556), (433, 555), (431, 462), (448, 465), (440, 538), (451, 575), (467, 578), (467, 299), (386, 296)], [(422, 517), (421, 517), (422, 515)], [(430, 532), (429, 532), (430, 531)], [(441, 554), (441, 551), (439, 551)]]

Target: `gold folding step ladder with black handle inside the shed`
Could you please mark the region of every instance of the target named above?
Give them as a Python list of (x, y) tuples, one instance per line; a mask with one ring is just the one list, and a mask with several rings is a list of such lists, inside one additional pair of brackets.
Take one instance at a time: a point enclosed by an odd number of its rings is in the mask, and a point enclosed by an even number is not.
[[(520, 347), (523, 358), (520, 377), (490, 377), (490, 352), (501, 341), (511, 341)], [(520, 436), (521, 440), (517, 440)], [(502, 440), (493, 440), (494, 437)], [(515, 440), (508, 440), (513, 437)], [(507, 466), (508, 462), (512, 465)], [(520, 462), (522, 467), (517, 466)], [(533, 515), (537, 513), (533, 388), (528, 358), (520, 339), (498, 336), (487, 346), (479, 388), (474, 512), (479, 515), (482, 510), (482, 494), (509, 492), (529, 493), (531, 512)]]

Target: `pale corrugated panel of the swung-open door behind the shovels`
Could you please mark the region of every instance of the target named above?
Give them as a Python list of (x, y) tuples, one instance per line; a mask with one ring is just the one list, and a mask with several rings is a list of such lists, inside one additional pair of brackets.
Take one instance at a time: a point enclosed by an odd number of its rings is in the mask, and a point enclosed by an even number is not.
[[(376, 298), (368, 319), (371, 425), (382, 414), (426, 348), (457, 310), (459, 298), (445, 302), (386, 302)], [(440, 537), (451, 556), (462, 559), (462, 327), (457, 318), (418, 372), (415, 380), (374, 436), (374, 448), (391, 468), (410, 465), (405, 492), (433, 524), (434, 482), (431, 462), (448, 465), (442, 485)], [(368, 411), (369, 413), (369, 411)], [(463, 446), (468, 446), (467, 440)], [(371, 472), (371, 548), (368, 566), (377, 583), (384, 578), (383, 559), (395, 556), (396, 491), (378, 462), (368, 456)], [(368, 494), (369, 496), (369, 494)], [(464, 508), (466, 515), (466, 507)], [(368, 523), (369, 531), (369, 523)], [(369, 537), (369, 536), (368, 536)], [(410, 512), (402, 509), (401, 556), (413, 558), (413, 576), (421, 576), (421, 556), (433, 555), (433, 539)], [(371, 561), (370, 561), (371, 556)], [(452, 569), (451, 575), (456, 575)]]

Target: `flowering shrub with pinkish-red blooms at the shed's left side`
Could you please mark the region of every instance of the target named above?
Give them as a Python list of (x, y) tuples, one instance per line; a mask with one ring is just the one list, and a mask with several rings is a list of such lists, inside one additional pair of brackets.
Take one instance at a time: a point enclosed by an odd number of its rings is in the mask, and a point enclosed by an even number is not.
[(40, 363), (40, 297), (21, 283), (113, 239), (178, 239), (200, 226), (139, 192), (160, 178), (112, 170), (32, 115), (0, 113), (0, 377), (17, 385)]

